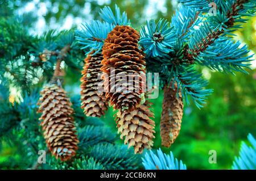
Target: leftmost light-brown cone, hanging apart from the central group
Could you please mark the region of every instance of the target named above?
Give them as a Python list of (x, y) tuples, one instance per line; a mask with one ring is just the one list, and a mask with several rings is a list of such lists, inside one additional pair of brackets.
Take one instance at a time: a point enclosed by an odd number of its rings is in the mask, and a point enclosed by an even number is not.
[(61, 161), (67, 161), (76, 154), (79, 140), (76, 136), (72, 103), (66, 92), (52, 84), (44, 87), (39, 99), (38, 112), (42, 113), (44, 138), (49, 151)]

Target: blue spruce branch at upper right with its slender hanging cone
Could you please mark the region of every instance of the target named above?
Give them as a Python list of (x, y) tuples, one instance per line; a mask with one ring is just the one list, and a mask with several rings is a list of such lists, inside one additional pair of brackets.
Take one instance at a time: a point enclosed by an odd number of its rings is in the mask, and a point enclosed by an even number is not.
[[(179, 2), (171, 23), (164, 19), (148, 21), (142, 27), (139, 41), (146, 52), (147, 69), (160, 73), (160, 86), (176, 87), (179, 103), (175, 103), (173, 95), (164, 96), (163, 100), (161, 136), (165, 146), (170, 146), (179, 133), (183, 100), (189, 104), (190, 96), (200, 108), (212, 93), (205, 88), (208, 83), (196, 71), (195, 64), (234, 74), (234, 71), (246, 72), (252, 60), (252, 56), (247, 56), (247, 47), (227, 35), (233, 36), (232, 32), (241, 27), (236, 23), (246, 22), (245, 16), (254, 15), (255, 1), (214, 1), (216, 14), (209, 12), (209, 1)], [(176, 117), (174, 124), (166, 127), (166, 117), (172, 116)]]

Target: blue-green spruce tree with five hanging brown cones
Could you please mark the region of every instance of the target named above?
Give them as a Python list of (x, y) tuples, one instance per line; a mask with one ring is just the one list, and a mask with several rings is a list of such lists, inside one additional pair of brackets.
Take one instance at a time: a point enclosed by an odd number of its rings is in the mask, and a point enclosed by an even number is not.
[[(200, 108), (212, 93), (205, 88), (207, 81), (196, 65), (224, 73), (246, 73), (252, 56), (248, 56), (246, 45), (232, 39), (232, 32), (246, 22), (246, 16), (254, 15), (256, 7), (254, 0), (216, 1), (213, 15), (208, 13), (208, 1), (179, 2), (171, 22), (149, 20), (140, 33), (117, 6), (114, 12), (104, 7), (101, 20), (86, 22), (79, 30), (48, 31), (43, 36), (30, 35), (17, 18), (4, 13), (0, 18), (0, 144), (16, 145), (18, 153), (1, 167), (142, 168), (141, 156), (133, 152), (150, 149), (154, 133), (159, 132), (154, 131), (148, 92), (142, 87), (147, 72), (160, 73), (164, 90), (160, 132), (163, 145), (170, 146), (181, 128), (183, 102), (189, 104), (192, 99)], [(73, 74), (80, 74), (83, 65), (80, 97), (72, 94), (68, 83), (79, 84)], [(142, 73), (138, 85), (134, 80), (129, 82), (139, 91), (100, 94), (96, 74), (110, 74), (110, 68), (126, 78), (129, 72)], [(123, 75), (118, 76), (122, 80)], [(108, 81), (105, 77), (104, 89), (109, 88)], [(10, 95), (13, 90), (15, 98)], [(134, 150), (118, 144), (117, 135), (105, 125), (104, 118), (95, 118), (104, 115), (108, 101), (118, 111), (121, 138), (125, 137), (125, 144)], [(47, 153), (47, 163), (42, 165), (38, 163), (39, 150)], [(148, 160), (155, 157), (150, 154), (146, 155)], [(172, 154), (171, 160), (162, 151), (158, 155), (170, 161), (168, 168), (177, 162)], [(176, 167), (179, 169), (178, 163)], [(186, 168), (182, 162), (180, 167)]]

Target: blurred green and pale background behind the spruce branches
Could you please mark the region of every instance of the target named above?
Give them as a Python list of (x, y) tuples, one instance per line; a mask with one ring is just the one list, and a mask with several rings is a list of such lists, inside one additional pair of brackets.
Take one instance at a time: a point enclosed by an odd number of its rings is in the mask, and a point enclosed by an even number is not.
[[(105, 5), (117, 4), (126, 11), (133, 27), (140, 30), (146, 20), (171, 19), (177, 6), (171, 0), (129, 0), (129, 1), (83, 1), (83, 0), (48, 0), (48, 1), (9, 1), (1, 3), (1, 16), (15, 14), (20, 22), (29, 28), (32, 35), (42, 35), (49, 29), (69, 30), (81, 23), (98, 18), (98, 11)], [(243, 29), (235, 32), (236, 40), (247, 44), (250, 53), (256, 52), (256, 17), (251, 17)], [(188, 169), (230, 169), (235, 155), (238, 155), (242, 140), (247, 134), (256, 136), (256, 62), (251, 62), (249, 74), (236, 73), (227, 75), (201, 69), (210, 88), (214, 89), (207, 104), (199, 110), (195, 105), (185, 106), (180, 135), (170, 149), (175, 157), (181, 159)], [(80, 72), (67, 73), (67, 91), (79, 94)], [(74, 80), (77, 80), (74, 82)], [(155, 112), (156, 138), (154, 148), (161, 147), (159, 134), (160, 113), (162, 111), (163, 92), (158, 99), (152, 99)], [(102, 118), (116, 132), (114, 112), (110, 109)], [(122, 143), (122, 141), (120, 141)], [(217, 163), (208, 162), (209, 150), (217, 151)], [(15, 145), (3, 143), (0, 151), (0, 163), (15, 155)]]

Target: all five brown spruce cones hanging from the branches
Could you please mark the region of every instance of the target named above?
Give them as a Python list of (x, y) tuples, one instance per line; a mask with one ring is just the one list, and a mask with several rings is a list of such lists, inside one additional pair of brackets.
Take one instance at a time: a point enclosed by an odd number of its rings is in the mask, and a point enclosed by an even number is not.
[[(153, 145), (155, 123), (146, 92), (146, 61), (139, 49), (139, 33), (130, 26), (116, 26), (105, 40), (102, 53), (90, 52), (81, 78), (81, 107), (86, 116), (101, 117), (113, 106), (118, 133), (125, 144), (142, 153)], [(103, 73), (103, 74), (100, 74)], [(174, 85), (174, 86), (171, 86)], [(162, 145), (170, 147), (179, 134), (183, 115), (177, 85), (164, 87)], [(179, 94), (177, 97), (176, 95)], [(49, 151), (67, 161), (76, 154), (77, 136), (71, 102), (56, 84), (41, 92), (39, 112)]]

